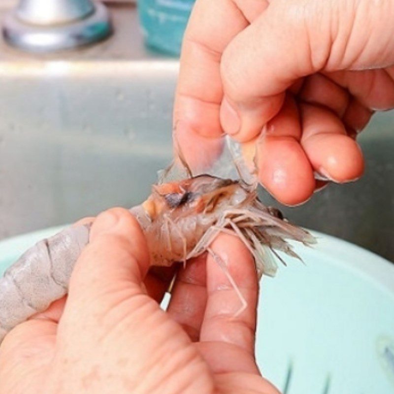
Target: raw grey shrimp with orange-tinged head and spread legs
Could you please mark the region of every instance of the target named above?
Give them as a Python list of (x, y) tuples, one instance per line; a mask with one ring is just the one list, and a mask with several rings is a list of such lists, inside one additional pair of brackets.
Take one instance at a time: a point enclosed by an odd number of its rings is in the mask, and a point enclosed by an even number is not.
[[(199, 175), (153, 186), (141, 205), (131, 208), (147, 239), (151, 265), (184, 262), (209, 248), (220, 232), (235, 233), (248, 247), (257, 275), (274, 275), (277, 251), (297, 257), (285, 239), (309, 245), (307, 231), (264, 206), (254, 186), (243, 180)], [(71, 227), (38, 242), (0, 279), (0, 341), (5, 334), (67, 293), (73, 266), (89, 242), (91, 224)], [(243, 300), (226, 263), (214, 256)], [(282, 261), (283, 262), (283, 261)]]

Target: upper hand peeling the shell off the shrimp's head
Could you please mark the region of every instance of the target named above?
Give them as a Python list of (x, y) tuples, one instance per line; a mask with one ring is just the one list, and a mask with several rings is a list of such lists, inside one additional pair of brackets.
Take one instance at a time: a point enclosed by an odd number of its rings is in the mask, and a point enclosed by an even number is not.
[(315, 171), (358, 179), (355, 137), (394, 107), (393, 16), (393, 0), (197, 0), (174, 108), (184, 156), (209, 164), (225, 131), (289, 205), (322, 186)]

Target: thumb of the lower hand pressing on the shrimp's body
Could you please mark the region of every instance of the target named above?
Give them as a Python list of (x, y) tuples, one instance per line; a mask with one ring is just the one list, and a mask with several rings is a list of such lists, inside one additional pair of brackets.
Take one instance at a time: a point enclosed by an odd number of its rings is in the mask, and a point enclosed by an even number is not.
[(59, 329), (78, 330), (122, 300), (146, 294), (143, 280), (148, 268), (146, 240), (131, 213), (123, 208), (101, 213), (72, 272)]

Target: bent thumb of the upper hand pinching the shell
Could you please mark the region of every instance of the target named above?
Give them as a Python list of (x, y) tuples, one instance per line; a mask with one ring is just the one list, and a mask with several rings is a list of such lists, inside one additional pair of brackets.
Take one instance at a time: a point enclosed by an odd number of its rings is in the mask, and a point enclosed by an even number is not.
[[(314, 3), (309, 8), (319, 12)], [(312, 28), (308, 25), (315, 23), (316, 18), (305, 8), (299, 1), (272, 1), (223, 54), (221, 123), (240, 142), (260, 134), (280, 110), (286, 89), (298, 78), (323, 67), (327, 60), (329, 45), (315, 47), (311, 42)], [(326, 31), (329, 32), (329, 22), (326, 26), (321, 21), (319, 36), (324, 38)], [(313, 40), (321, 41), (319, 37)]]

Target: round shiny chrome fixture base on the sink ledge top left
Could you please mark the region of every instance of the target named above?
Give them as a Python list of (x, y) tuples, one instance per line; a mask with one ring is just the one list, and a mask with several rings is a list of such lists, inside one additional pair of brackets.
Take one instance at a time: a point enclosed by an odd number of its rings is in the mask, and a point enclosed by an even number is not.
[(105, 6), (91, 0), (20, 0), (3, 25), (9, 44), (41, 53), (90, 44), (110, 33)]

